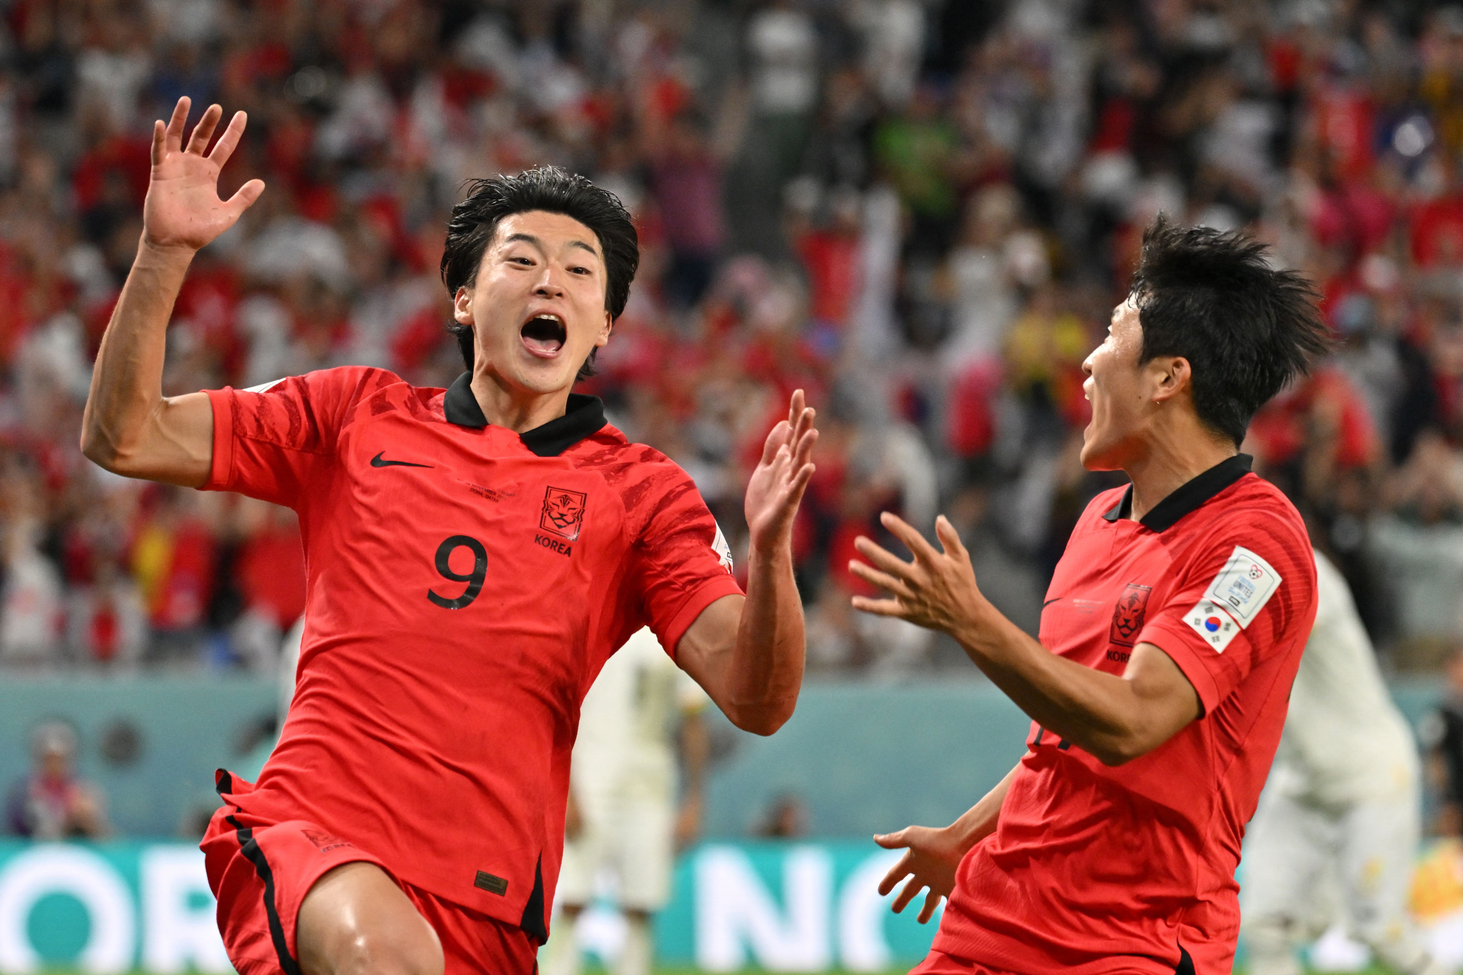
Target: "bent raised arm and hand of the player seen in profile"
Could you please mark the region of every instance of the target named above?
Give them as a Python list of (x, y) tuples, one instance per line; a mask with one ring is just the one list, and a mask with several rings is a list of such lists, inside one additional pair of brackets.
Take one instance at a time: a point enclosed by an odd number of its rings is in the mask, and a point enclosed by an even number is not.
[(882, 520), (914, 558), (857, 539), (873, 566), (854, 561), (851, 572), (892, 598), (854, 596), (854, 608), (948, 633), (1033, 721), (1103, 765), (1153, 751), (1203, 713), (1198, 691), (1153, 643), (1134, 648), (1118, 677), (1056, 656), (1023, 633), (980, 593), (970, 553), (944, 515), (935, 522), (942, 551), (900, 517), (885, 513)]

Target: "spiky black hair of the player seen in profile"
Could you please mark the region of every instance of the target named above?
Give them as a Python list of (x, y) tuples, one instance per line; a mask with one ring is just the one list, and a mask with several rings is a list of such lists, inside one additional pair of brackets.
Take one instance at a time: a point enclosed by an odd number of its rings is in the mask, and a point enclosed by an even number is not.
[(1239, 232), (1159, 215), (1143, 232), (1131, 295), (1138, 361), (1186, 358), (1194, 412), (1236, 446), (1255, 411), (1333, 345), (1311, 282), (1271, 268), (1265, 246)]

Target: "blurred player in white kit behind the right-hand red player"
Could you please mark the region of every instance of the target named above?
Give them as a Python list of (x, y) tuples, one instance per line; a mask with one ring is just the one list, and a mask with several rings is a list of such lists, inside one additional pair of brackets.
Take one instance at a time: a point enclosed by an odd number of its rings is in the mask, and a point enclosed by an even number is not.
[(1245, 838), (1249, 974), (1299, 975), (1296, 947), (1336, 919), (1393, 971), (1441, 974), (1406, 912), (1421, 829), (1418, 747), (1346, 579), (1320, 553), (1315, 564), (1315, 627)]

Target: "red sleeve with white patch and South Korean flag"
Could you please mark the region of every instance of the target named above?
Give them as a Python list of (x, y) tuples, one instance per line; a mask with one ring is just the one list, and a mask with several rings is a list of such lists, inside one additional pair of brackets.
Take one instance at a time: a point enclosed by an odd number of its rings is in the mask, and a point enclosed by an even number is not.
[(1268, 513), (1198, 542), (1138, 643), (1167, 653), (1210, 713), (1268, 655), (1301, 652), (1315, 614), (1309, 541)]

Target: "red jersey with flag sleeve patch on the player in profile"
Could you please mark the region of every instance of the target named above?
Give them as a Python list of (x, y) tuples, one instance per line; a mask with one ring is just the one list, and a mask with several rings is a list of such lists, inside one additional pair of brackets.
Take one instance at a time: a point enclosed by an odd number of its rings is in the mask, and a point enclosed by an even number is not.
[(1162, 648), (1204, 715), (1107, 767), (1031, 725), (996, 832), (960, 864), (935, 949), (1008, 972), (1227, 972), (1239, 843), (1315, 618), (1301, 516), (1238, 455), (1141, 520), (1087, 506), (1042, 610), (1053, 653), (1122, 674)]

